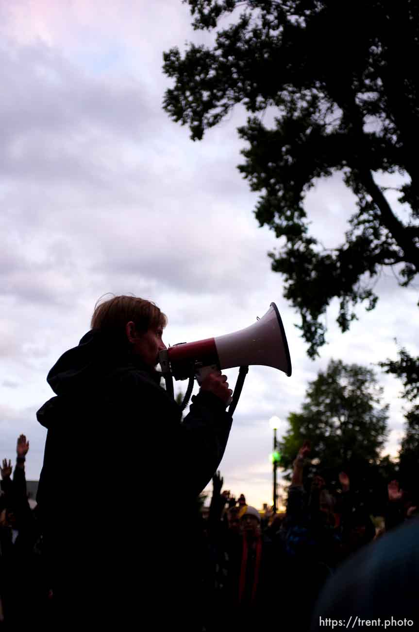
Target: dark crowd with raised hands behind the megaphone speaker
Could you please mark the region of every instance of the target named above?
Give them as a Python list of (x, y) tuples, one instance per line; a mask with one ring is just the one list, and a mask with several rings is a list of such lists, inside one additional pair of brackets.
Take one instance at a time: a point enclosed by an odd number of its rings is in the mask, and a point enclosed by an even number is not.
[[(28, 449), (27, 438), (20, 435), (15, 467), (6, 458), (1, 467), (0, 622), (4, 630), (21, 629), (23, 624), (37, 623), (44, 629), (57, 624), (54, 566), (43, 547), (42, 505), (32, 508), (28, 501)], [(295, 619), (296, 595), (301, 604), (298, 628), (308, 630), (312, 622), (312, 629), (317, 629), (313, 617), (319, 595), (323, 589), (324, 603), (343, 562), (360, 549), (372, 547), (386, 532), (399, 531), (405, 521), (412, 523), (418, 508), (396, 480), (387, 485), (386, 514), (382, 524), (374, 518), (377, 526), (344, 471), (337, 491), (331, 492), (328, 481), (319, 475), (307, 487), (304, 465), (309, 455), (310, 444), (305, 441), (293, 462), (285, 513), (259, 513), (243, 494), (236, 499), (223, 490), (223, 478), (218, 471), (214, 474), (208, 515), (204, 517), (197, 501), (198, 519), (193, 526), (197, 631), (254, 629), (266, 613), (274, 611), (280, 611), (284, 621), (288, 616)], [(170, 541), (170, 526), (166, 537)], [(158, 623), (154, 627), (160, 629)]]

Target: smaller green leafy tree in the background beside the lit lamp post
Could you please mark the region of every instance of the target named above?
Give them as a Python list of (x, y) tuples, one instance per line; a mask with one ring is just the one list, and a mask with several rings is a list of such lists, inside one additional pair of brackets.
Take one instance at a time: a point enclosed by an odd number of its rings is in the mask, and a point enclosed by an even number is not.
[(288, 416), (281, 466), (290, 468), (305, 440), (312, 445), (310, 475), (343, 470), (356, 476), (358, 467), (378, 465), (388, 416), (382, 393), (371, 369), (331, 360), (307, 387), (301, 411)]

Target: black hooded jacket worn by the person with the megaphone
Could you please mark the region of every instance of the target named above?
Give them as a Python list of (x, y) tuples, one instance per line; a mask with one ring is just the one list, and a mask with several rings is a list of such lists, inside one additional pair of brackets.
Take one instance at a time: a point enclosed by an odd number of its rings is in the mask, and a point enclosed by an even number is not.
[(173, 581), (179, 562), (193, 557), (196, 497), (227, 444), (232, 418), (223, 402), (201, 391), (182, 421), (160, 375), (95, 330), (47, 380), (56, 396), (37, 413), (48, 428), (37, 501), (52, 588), (68, 595), (76, 572), (87, 593), (102, 586), (103, 597), (111, 586), (114, 599), (128, 560), (153, 576), (149, 587)]

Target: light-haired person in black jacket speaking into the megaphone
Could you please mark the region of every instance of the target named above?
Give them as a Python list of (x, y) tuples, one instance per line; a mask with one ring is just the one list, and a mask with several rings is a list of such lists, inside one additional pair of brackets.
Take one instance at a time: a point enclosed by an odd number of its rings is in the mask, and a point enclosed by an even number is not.
[[(57, 623), (132, 621), (158, 595), (173, 622), (194, 590), (196, 497), (225, 451), (232, 390), (210, 372), (181, 422), (155, 370), (166, 324), (151, 301), (114, 296), (48, 374), (37, 501)], [(174, 516), (168, 529), (156, 501)]]

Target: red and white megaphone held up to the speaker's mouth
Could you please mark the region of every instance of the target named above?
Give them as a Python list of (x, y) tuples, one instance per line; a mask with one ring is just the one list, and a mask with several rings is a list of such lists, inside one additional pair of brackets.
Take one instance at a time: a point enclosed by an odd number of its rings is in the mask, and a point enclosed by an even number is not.
[(288, 376), (292, 372), (285, 329), (275, 303), (271, 303), (268, 312), (249, 327), (225, 336), (175, 344), (160, 351), (159, 362), (166, 380), (166, 389), (172, 395), (172, 377), (175, 380), (189, 378), (181, 408), (186, 406), (191, 396), (194, 377), (200, 384), (211, 371), (240, 367), (230, 413), (232, 406), (235, 408), (237, 405), (249, 365), (277, 368)]

